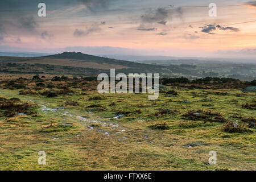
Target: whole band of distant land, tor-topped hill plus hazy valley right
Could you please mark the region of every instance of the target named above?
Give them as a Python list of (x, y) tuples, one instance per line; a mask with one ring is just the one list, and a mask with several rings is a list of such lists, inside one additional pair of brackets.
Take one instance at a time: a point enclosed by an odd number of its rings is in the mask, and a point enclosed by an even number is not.
[(0, 73), (79, 77), (109, 74), (110, 69), (114, 68), (116, 73), (159, 73), (160, 77), (232, 77), (248, 81), (256, 78), (256, 65), (253, 64), (199, 60), (154, 61), (162, 65), (151, 61), (147, 63), (110, 59), (81, 52), (64, 52), (42, 57), (0, 57)]

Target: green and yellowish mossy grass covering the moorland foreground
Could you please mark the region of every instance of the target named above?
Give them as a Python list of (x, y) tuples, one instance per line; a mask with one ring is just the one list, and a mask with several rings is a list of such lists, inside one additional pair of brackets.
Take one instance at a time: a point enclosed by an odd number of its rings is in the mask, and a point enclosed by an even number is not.
[[(169, 86), (168, 90), (177, 91), (176, 96), (163, 92), (158, 100), (149, 101), (146, 94), (72, 90), (75, 93), (54, 98), (0, 90), (1, 97), (20, 98), (20, 102), (36, 102), (52, 109), (65, 107), (46, 111), (39, 105), (33, 109), (37, 112), (33, 117), (1, 117), (1, 170), (256, 169), (255, 129), (251, 133), (227, 133), (223, 128), (230, 122), (247, 126), (242, 119), (255, 118), (255, 110), (242, 107), (255, 103), (255, 93)], [(91, 100), (93, 97), (102, 99)], [(66, 105), (67, 100), (79, 105)], [(159, 114), (163, 109), (170, 112)], [(212, 115), (192, 121), (184, 116), (189, 110), (219, 113), (226, 121), (214, 122)], [(118, 115), (119, 119), (114, 118)], [(99, 122), (88, 123), (77, 116)], [(166, 130), (149, 127), (164, 123)], [(39, 151), (46, 152), (46, 165), (38, 164)], [(209, 151), (217, 152), (217, 165), (209, 165)]]

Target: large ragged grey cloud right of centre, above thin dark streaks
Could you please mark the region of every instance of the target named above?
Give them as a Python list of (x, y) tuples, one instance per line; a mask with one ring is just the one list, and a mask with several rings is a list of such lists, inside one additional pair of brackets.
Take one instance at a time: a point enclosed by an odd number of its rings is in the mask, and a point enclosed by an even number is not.
[[(172, 16), (177, 16), (182, 19), (183, 10), (181, 7), (176, 9), (166, 9), (164, 7), (159, 7), (156, 10), (148, 10), (146, 14), (142, 15), (142, 22), (143, 23), (160, 23), (163, 24), (166, 22), (167, 19), (171, 19)], [(165, 23), (164, 23), (165, 24)]]

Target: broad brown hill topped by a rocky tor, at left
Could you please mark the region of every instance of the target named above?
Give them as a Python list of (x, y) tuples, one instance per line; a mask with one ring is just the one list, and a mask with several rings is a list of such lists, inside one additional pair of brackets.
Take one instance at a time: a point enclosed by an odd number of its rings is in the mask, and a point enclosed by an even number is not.
[(81, 52), (63, 52), (42, 57), (0, 57), (2, 73), (97, 76), (109, 73), (170, 73), (162, 65), (150, 65), (87, 55)]

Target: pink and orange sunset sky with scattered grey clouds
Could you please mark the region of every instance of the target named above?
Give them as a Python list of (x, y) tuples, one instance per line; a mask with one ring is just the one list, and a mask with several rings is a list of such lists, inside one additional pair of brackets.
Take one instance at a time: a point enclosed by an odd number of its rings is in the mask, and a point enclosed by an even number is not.
[[(41, 2), (46, 17), (38, 16)], [(253, 58), (255, 30), (250, 0), (0, 2), (0, 51)]]

